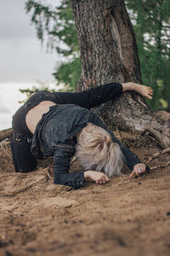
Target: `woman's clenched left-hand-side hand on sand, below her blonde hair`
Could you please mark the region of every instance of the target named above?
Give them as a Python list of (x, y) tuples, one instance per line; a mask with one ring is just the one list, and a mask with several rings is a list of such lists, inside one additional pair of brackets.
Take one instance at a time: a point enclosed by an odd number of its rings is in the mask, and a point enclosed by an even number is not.
[(109, 177), (103, 172), (95, 172), (95, 171), (86, 171), (84, 172), (84, 177), (86, 178), (91, 178), (94, 180), (95, 183), (97, 184), (104, 184), (109, 182)]

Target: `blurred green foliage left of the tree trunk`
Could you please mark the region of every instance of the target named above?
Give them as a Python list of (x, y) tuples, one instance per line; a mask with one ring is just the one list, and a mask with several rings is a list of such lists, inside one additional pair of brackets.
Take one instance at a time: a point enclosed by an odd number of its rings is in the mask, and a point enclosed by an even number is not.
[(66, 90), (74, 90), (82, 66), (71, 2), (63, 0), (59, 7), (54, 8), (42, 1), (27, 0), (26, 13), (31, 13), (31, 22), (36, 26), (37, 38), (42, 43), (47, 38), (48, 49), (54, 49), (64, 57), (63, 63), (54, 72), (57, 83), (65, 84)]

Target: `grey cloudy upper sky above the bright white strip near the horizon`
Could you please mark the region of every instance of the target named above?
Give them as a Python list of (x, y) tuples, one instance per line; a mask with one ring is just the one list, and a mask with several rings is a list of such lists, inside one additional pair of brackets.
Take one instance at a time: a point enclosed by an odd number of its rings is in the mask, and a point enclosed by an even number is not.
[[(0, 0), (0, 83), (53, 79), (59, 56), (47, 54), (26, 15), (25, 0)], [(48, 0), (59, 3), (59, 0)]]

